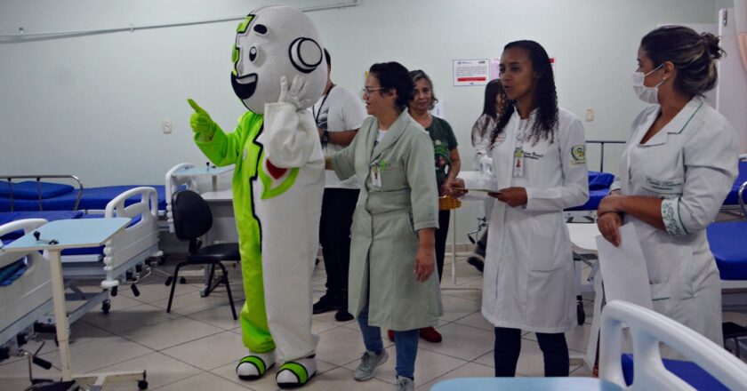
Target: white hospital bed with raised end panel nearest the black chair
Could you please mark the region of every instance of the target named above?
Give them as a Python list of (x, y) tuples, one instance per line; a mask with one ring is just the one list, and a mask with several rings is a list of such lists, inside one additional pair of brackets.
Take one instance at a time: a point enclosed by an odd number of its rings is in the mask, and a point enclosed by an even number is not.
[[(104, 313), (110, 308), (110, 295), (116, 296), (120, 283), (128, 283), (133, 293), (138, 295), (137, 283), (141, 270), (158, 251), (158, 209), (157, 190), (154, 188), (132, 188), (117, 195), (104, 210), (103, 215), (85, 214), (83, 211), (15, 211), (0, 213), (0, 219), (20, 219), (41, 217), (57, 219), (109, 219), (124, 217), (131, 219), (128, 227), (113, 236), (100, 248), (66, 250), (62, 252), (62, 273), (68, 290), (69, 300), (84, 299), (84, 304), (68, 314), (70, 323), (101, 304)], [(12, 240), (19, 233), (11, 232), (4, 236)], [(102, 290), (98, 293), (83, 293), (78, 284), (84, 281), (99, 281)], [(48, 317), (44, 323), (53, 323)]]

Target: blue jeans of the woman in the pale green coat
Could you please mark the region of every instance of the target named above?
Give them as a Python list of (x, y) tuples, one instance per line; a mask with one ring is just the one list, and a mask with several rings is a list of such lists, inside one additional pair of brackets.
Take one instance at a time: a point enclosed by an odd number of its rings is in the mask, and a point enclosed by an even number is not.
[[(358, 325), (363, 334), (365, 350), (382, 353), (382, 329), (368, 325), (368, 305), (358, 315)], [(415, 356), (418, 354), (418, 330), (394, 331), (394, 346), (397, 347), (397, 376), (414, 379)]]

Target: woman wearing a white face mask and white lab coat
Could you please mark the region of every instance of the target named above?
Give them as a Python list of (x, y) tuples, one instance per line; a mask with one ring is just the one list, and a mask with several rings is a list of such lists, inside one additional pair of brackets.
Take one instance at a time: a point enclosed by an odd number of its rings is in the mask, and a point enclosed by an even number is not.
[(619, 245), (632, 223), (647, 262), (654, 309), (723, 343), (719, 270), (705, 227), (737, 172), (737, 141), (703, 100), (717, 82), (719, 39), (656, 28), (641, 40), (633, 87), (652, 105), (633, 122), (620, 177), (598, 209), (598, 227)]

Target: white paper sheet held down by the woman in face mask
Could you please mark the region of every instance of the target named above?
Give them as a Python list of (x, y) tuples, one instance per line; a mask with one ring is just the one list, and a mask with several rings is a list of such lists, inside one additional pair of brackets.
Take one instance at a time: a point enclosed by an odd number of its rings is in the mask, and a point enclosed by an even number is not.
[(597, 236), (606, 302), (623, 300), (653, 309), (646, 259), (631, 223), (620, 227), (620, 240), (620, 247), (615, 247), (602, 235)]

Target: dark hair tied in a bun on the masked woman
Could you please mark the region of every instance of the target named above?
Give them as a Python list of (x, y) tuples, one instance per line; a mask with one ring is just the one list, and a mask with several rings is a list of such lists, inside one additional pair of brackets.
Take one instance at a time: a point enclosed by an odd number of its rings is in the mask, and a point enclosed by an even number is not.
[(684, 26), (663, 26), (649, 32), (640, 40), (655, 67), (671, 61), (677, 68), (674, 88), (688, 96), (703, 95), (719, 80), (716, 60), (725, 52), (719, 38), (711, 33), (698, 34)]

